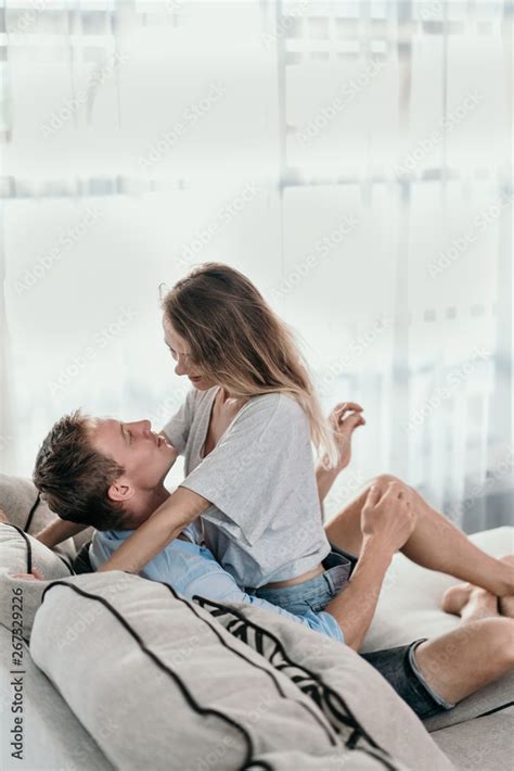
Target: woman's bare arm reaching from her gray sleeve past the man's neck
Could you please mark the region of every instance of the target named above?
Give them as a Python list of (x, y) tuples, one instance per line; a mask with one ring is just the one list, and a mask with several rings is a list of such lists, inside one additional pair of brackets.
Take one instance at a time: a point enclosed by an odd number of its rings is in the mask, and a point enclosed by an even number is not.
[(139, 573), (168, 543), (210, 506), (206, 498), (178, 488), (137, 531), (99, 568)]

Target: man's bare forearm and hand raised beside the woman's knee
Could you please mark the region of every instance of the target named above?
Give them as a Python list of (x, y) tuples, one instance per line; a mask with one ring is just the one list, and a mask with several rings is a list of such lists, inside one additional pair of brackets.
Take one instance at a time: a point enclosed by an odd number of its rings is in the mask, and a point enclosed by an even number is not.
[(404, 488), (391, 482), (385, 492), (371, 488), (362, 509), (363, 543), (346, 587), (326, 606), (354, 650), (362, 645), (373, 620), (387, 568), (414, 530), (416, 514)]

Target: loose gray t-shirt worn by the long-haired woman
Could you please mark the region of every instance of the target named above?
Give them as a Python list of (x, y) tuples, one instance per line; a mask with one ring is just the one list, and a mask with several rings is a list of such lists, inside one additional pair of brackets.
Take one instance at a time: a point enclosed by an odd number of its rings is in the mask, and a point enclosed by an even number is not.
[(294, 399), (253, 396), (202, 457), (218, 387), (193, 389), (164, 432), (185, 456), (188, 488), (209, 501), (207, 546), (241, 586), (264, 586), (312, 570), (330, 552), (309, 421)]

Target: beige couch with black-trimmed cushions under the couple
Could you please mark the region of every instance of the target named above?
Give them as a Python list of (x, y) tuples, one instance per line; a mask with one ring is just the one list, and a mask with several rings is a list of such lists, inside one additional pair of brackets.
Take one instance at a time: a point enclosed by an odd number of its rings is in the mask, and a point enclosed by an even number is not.
[[(423, 724), (357, 654), (280, 616), (119, 571), (74, 576), (85, 536), (59, 555), (35, 541), (53, 517), (39, 503), (25, 532), (36, 498), (0, 475), (2, 769), (512, 768), (513, 675)], [(512, 528), (472, 538), (513, 551)], [(12, 577), (34, 566), (51, 580)], [(363, 650), (454, 628), (439, 609), (452, 583), (397, 555)]]

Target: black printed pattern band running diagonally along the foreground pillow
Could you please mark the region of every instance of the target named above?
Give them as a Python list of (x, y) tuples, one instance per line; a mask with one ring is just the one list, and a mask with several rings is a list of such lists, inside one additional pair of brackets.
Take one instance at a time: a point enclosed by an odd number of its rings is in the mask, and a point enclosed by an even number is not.
[(381, 748), (359, 723), (340, 694), (326, 685), (319, 674), (293, 661), (281, 641), (272, 632), (249, 621), (240, 610), (205, 597), (195, 596), (193, 599), (218, 619), (234, 637), (264, 656), (272, 667), (287, 675), (303, 693), (309, 696), (349, 749), (367, 751), (382, 760), (386, 768), (395, 768), (390, 755)]

